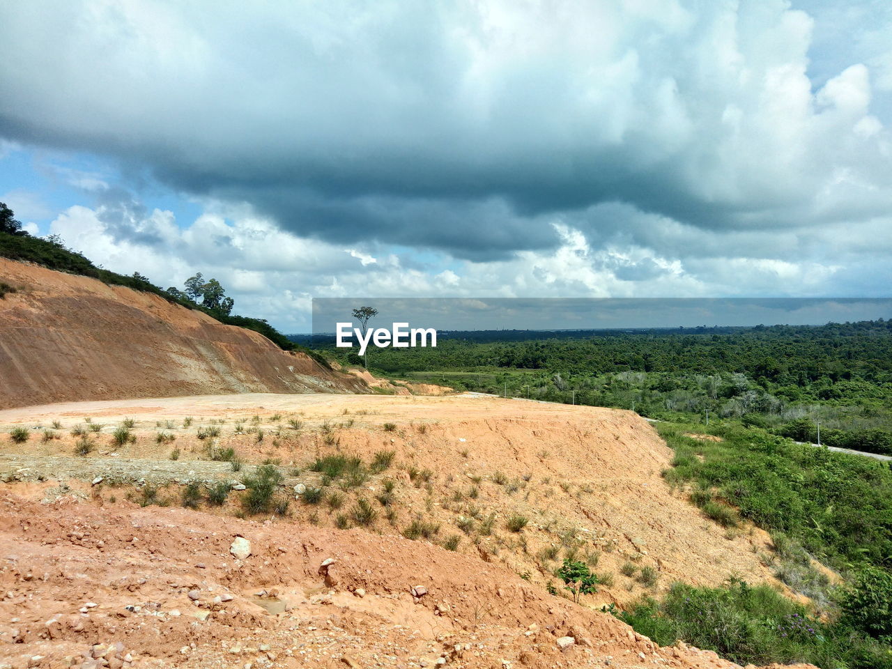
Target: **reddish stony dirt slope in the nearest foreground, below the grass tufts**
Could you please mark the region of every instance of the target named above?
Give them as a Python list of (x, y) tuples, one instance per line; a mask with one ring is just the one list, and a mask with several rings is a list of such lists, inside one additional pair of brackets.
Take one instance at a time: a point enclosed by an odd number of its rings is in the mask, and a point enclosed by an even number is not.
[(16, 669), (736, 666), (400, 537), (0, 495)]

